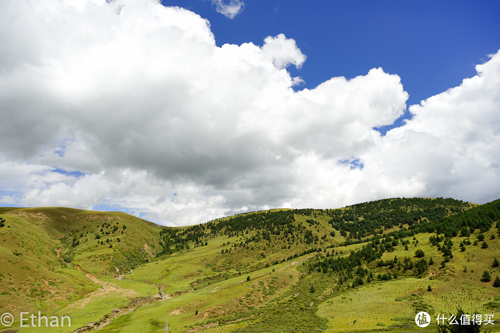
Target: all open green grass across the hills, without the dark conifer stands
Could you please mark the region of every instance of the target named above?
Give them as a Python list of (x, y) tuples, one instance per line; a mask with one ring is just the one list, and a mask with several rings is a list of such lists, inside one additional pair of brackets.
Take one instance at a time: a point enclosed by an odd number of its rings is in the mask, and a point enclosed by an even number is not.
[[(203, 242), (206, 240), (207, 246), (191, 246), (189, 250), (154, 258), (147, 263), (137, 260), (128, 263), (127, 267), (140, 265), (126, 274), (123, 280), (116, 280), (110, 274), (112, 269), (124, 269), (123, 265), (127, 264), (120, 253), (139, 251), (138, 249), (150, 254), (157, 251), (154, 242), (158, 233), (156, 227), (141, 224), (139, 219), (122, 213), (56, 210), (58, 211), (49, 209), (53, 215), (41, 209), (2, 213), (9, 224), (17, 226), (8, 228), (11, 230), (0, 230), (0, 242), (4, 240), (7, 245), (1, 247), (2, 261), (10, 260), (9, 264), (12, 265), (8, 267), (8, 271), (2, 272), (2, 279), (3, 282), (24, 279), (27, 288), (33, 287), (29, 286), (32, 283), (27, 281), (27, 277), (33, 277), (39, 284), (48, 283), (51, 279), (57, 282), (58, 277), (64, 287), (58, 288), (59, 293), (62, 290), (71, 291), (72, 288), (80, 289), (75, 289), (72, 294), (68, 292), (69, 300), (66, 296), (65, 300), (56, 302), (49, 301), (54, 300), (54, 293), (46, 294), (46, 304), (43, 304), (43, 301), (40, 302), (40, 296), (34, 294), (31, 298), (26, 298), (28, 290), (15, 285), (12, 288), (18, 290), (19, 296), (14, 296), (11, 292), (11, 295), (0, 296), (0, 305), (8, 310), (12, 309), (13, 301), (18, 302), (18, 308), (25, 305), (29, 305), (31, 310), (51, 307), (54, 311), (58, 310), (54, 313), (56, 316), (73, 316), (72, 330), (88, 322), (98, 321), (113, 308), (125, 307), (133, 298), (152, 296), (158, 292), (158, 287), (172, 298), (138, 307), (133, 312), (115, 318), (111, 324), (97, 332), (161, 332), (165, 319), (168, 319), (169, 332), (183, 332), (193, 328), (204, 328), (203, 332), (268, 332), (269, 329), (273, 332), (285, 332), (290, 329), (295, 332), (310, 332), (311, 329), (317, 328), (372, 332), (374, 329), (390, 326), (410, 326), (413, 329), (416, 328), (413, 318), (418, 307), (431, 309), (429, 312), (435, 316), (454, 311), (458, 304), (469, 313), (477, 311), (480, 314), (495, 314), (496, 319), (500, 315), (498, 308), (490, 307), (491, 303), (495, 303), (494, 297), (498, 295), (498, 289), (492, 287), (492, 281), (480, 281), (484, 270), (489, 270), (493, 279), (500, 275), (498, 268), (491, 268), (493, 258), (500, 258), (498, 237), (489, 240), (491, 235), (497, 233), (494, 228), (484, 233), (488, 249), (481, 249), (479, 243), (477, 246), (466, 246), (465, 252), (460, 252), (458, 243), (463, 237), (452, 238), (454, 257), (444, 269), (440, 268), (442, 254), (428, 242), (429, 236), (435, 234), (416, 235), (418, 244), (408, 237), (408, 251), (398, 245), (393, 252), (384, 253), (382, 259), (388, 260), (394, 256), (402, 259), (408, 256), (414, 261), (414, 251), (421, 249), (425, 258), (432, 256), (435, 262), (422, 278), (401, 274), (396, 280), (374, 281), (354, 289), (346, 289), (345, 283), (337, 286), (338, 275), (335, 273), (307, 274), (307, 264), (320, 260), (318, 256), (324, 257), (324, 252), (280, 262), (290, 254), (299, 253), (312, 246), (324, 249), (326, 245), (338, 245), (346, 240), (339, 235), (338, 230), (335, 231), (335, 237), (329, 235), (333, 230), (328, 224), (329, 217), (319, 212), (314, 214), (316, 223), (313, 224), (305, 222), (311, 216), (295, 214), (295, 222), (305, 227), (302, 234), (310, 230), (318, 237), (327, 235), (324, 240), (319, 238), (317, 244), (307, 245), (300, 242), (300, 235), (290, 241), (272, 235), (271, 242), (262, 240), (249, 243), (247, 249), (232, 245), (244, 241), (245, 237), (255, 235), (258, 230), (232, 237), (218, 234), (203, 239)], [(66, 218), (58, 217), (59, 214)], [(104, 245), (97, 245), (94, 235), (100, 232), (102, 223), (114, 225), (116, 222), (119, 226), (126, 224), (123, 236), (119, 228), (119, 236), (101, 236), (100, 240), (104, 240)], [(384, 233), (397, 229), (395, 226)], [(114, 293), (99, 295), (103, 288), (96, 290), (99, 285), (93, 284), (72, 265), (62, 268), (63, 265), (57, 263), (55, 249), (60, 246), (60, 239), (64, 243), (64, 237), (72, 239), (73, 235), (78, 236), (82, 230), (85, 231), (85, 236), (78, 238), (80, 245), (75, 248), (72, 262), (99, 277), (101, 282), (117, 286), (118, 289)], [(179, 228), (179, 231), (182, 230), (183, 228)], [(116, 237), (122, 240), (120, 244), (116, 242)], [(106, 238), (113, 239), (113, 248), (106, 245)], [(20, 239), (22, 241), (19, 241)], [(474, 239), (475, 235), (470, 237), (471, 241)], [(350, 250), (359, 249), (362, 245), (335, 247), (328, 251), (336, 251), (337, 257), (346, 257)], [(51, 252), (50, 249), (54, 251)], [(67, 246), (61, 250), (64, 249), (69, 250)], [(113, 250), (117, 249), (120, 251), (117, 256), (119, 263), (108, 258), (110, 255), (116, 255)], [(225, 249), (230, 249), (230, 252), (225, 253)], [(22, 252), (23, 255), (15, 256), (11, 254), (13, 251)], [(49, 268), (48, 264), (43, 264), (43, 261), (48, 259), (57, 263), (55, 270)], [(273, 265), (275, 260), (280, 263)], [(266, 264), (270, 266), (265, 267)], [(26, 269), (20, 268), (22, 266), (29, 268), (29, 274)], [(375, 275), (386, 271), (386, 268), (376, 267), (375, 262), (366, 267)], [(467, 273), (463, 272), (464, 267), (467, 267)], [(471, 273), (471, 270), (474, 273)], [(246, 281), (247, 276), (250, 277), (249, 281)], [(310, 292), (311, 285), (315, 288), (314, 293)], [(428, 285), (432, 286), (432, 292), (426, 291)], [(8, 290), (10, 286), (2, 284), (2, 291)], [(91, 292), (95, 297), (88, 297), (92, 295)], [(81, 299), (77, 301), (79, 298)], [(73, 304), (65, 308), (70, 301)], [(19, 332), (71, 332), (67, 329), (45, 330), (30, 328), (28, 331)]]

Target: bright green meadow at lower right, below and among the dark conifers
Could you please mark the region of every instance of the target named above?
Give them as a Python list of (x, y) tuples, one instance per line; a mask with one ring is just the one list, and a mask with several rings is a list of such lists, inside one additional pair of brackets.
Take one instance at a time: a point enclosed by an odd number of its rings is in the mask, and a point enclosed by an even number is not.
[[(487, 239), (491, 234), (493, 229), (485, 233)], [(357, 330), (389, 326), (413, 327), (412, 318), (416, 311), (412, 305), (421, 302), (428, 306), (432, 318), (438, 314), (452, 314), (457, 306), (461, 306), (466, 313), (495, 314), (498, 319), (500, 315), (498, 309), (488, 307), (490, 302), (494, 302), (494, 296), (498, 296), (498, 288), (492, 287), (493, 281), (481, 281), (484, 270), (488, 270), (493, 279), (496, 275), (500, 276), (500, 270), (491, 267), (493, 259), (500, 257), (498, 239), (488, 241), (488, 249), (481, 249), (479, 245), (469, 245), (466, 246), (465, 252), (460, 252), (458, 243), (464, 237), (453, 237), (451, 240), (454, 243), (454, 257), (445, 268), (441, 268), (442, 254), (437, 252), (436, 247), (430, 246), (428, 242), (430, 235), (432, 234), (416, 235), (415, 238), (419, 243), (416, 246), (412, 244), (408, 251), (399, 246), (396, 251), (384, 253), (382, 256), (383, 260), (392, 259), (394, 256), (403, 258), (412, 256), (416, 249), (421, 249), (427, 260), (430, 257), (434, 260), (434, 264), (423, 278), (408, 277), (375, 282), (345, 291), (321, 303), (318, 307), (318, 316), (328, 320), (329, 328)], [(465, 267), (466, 273), (463, 272)], [(379, 271), (383, 272), (383, 269)], [(427, 291), (429, 285), (431, 292)], [(338, 309), (342, 311), (339, 312)]]

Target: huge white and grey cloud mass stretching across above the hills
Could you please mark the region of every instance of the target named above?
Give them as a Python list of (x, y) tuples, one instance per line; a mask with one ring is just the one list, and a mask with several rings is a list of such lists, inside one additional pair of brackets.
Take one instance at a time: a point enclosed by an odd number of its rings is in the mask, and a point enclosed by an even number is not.
[[(231, 2), (232, 4), (233, 2)], [(234, 2), (235, 3), (235, 2)], [(155, 0), (0, 1), (0, 204), (165, 225), (386, 197), (500, 197), (500, 53), (409, 106), (382, 68), (294, 91), (283, 34), (215, 45)]]

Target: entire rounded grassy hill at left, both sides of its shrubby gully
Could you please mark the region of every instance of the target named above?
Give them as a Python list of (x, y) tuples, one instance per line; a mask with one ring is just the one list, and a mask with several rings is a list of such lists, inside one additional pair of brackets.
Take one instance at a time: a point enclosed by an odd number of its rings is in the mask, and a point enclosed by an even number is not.
[[(111, 309), (126, 305), (129, 299), (103, 293), (99, 289), (101, 285), (87, 278), (75, 265), (97, 277), (109, 279), (111, 273), (117, 274), (118, 267), (136, 266), (152, 258), (158, 247), (160, 227), (124, 213), (12, 208), (2, 209), (1, 217), (5, 219), (5, 226), (0, 229), (2, 313), (41, 311), (47, 316), (74, 314), (74, 318), (97, 321)], [(95, 235), (102, 235), (99, 232), (102, 224), (114, 225), (116, 222), (120, 228), (114, 234), (101, 236), (104, 244), (97, 245)], [(126, 226), (124, 230), (123, 225)], [(80, 242), (74, 248), (71, 246), (73, 237)], [(122, 240), (120, 243), (116, 242), (117, 237)], [(113, 239), (113, 248), (105, 243), (106, 238)], [(136, 289), (138, 296), (157, 292), (149, 285), (134, 283), (131, 288), (130, 284), (120, 282), (122, 289), (116, 289), (115, 294), (131, 295), (127, 294), (127, 289)], [(89, 296), (92, 297), (90, 301), (86, 300)], [(78, 302), (82, 305), (72, 306)], [(63, 313), (58, 315), (58, 312)]]

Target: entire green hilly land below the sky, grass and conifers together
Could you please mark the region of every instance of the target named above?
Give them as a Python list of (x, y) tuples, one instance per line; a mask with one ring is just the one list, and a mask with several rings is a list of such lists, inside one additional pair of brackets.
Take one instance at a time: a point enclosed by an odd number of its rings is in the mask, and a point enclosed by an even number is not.
[(500, 200), (394, 198), (182, 228), (68, 208), (0, 216), (2, 312), (71, 318), (23, 328), (14, 316), (7, 332), (163, 332), (165, 320), (168, 332), (416, 332), (420, 311), (433, 332), (458, 307), (500, 319)]

